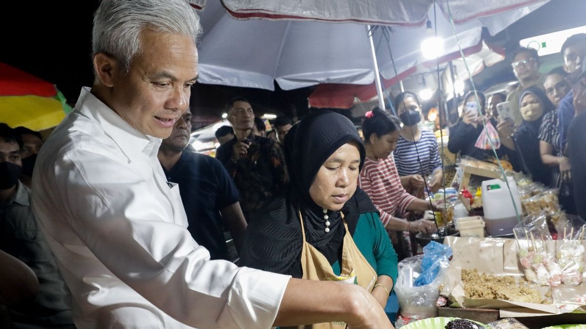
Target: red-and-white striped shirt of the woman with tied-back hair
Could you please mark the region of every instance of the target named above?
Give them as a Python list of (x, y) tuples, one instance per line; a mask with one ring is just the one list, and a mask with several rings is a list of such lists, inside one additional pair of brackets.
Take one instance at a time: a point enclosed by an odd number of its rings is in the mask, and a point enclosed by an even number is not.
[(407, 206), (416, 198), (401, 185), (393, 156), (378, 162), (366, 158), (358, 177), (358, 185), (380, 211), (383, 225), (387, 225), (395, 213), (403, 216), (407, 212)]

